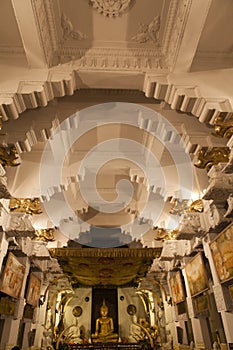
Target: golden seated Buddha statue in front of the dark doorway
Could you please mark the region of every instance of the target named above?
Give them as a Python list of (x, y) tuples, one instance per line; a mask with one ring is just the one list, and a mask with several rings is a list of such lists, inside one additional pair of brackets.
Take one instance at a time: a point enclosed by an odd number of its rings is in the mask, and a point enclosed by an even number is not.
[(108, 316), (108, 307), (103, 300), (103, 305), (100, 307), (100, 315), (96, 319), (95, 333), (92, 334), (91, 339), (93, 343), (116, 343), (118, 341), (118, 334), (113, 333), (113, 319)]

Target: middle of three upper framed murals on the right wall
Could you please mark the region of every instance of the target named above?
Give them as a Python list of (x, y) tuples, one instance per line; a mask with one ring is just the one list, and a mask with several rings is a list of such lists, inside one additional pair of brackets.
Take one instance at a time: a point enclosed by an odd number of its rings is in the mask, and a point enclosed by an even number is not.
[(187, 263), (185, 272), (191, 296), (202, 293), (209, 288), (204, 260), (201, 253), (198, 253)]

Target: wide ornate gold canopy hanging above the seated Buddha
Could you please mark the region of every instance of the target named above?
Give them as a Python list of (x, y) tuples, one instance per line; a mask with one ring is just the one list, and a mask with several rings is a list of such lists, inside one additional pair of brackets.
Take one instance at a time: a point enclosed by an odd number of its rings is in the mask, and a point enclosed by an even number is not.
[(56, 248), (50, 254), (73, 287), (137, 286), (162, 248)]

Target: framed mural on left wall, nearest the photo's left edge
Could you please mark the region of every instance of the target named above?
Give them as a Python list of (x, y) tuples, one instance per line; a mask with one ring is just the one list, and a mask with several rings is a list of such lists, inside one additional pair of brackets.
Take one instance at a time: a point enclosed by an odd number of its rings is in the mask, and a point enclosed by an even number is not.
[(13, 298), (19, 298), (22, 289), (25, 266), (14, 254), (9, 253), (4, 269), (0, 290)]

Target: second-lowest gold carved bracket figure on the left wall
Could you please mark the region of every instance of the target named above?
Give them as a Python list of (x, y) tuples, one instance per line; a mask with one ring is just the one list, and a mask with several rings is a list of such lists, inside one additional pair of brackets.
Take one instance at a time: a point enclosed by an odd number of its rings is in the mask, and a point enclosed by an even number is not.
[(39, 198), (11, 198), (9, 203), (10, 211), (26, 214), (41, 214)]

